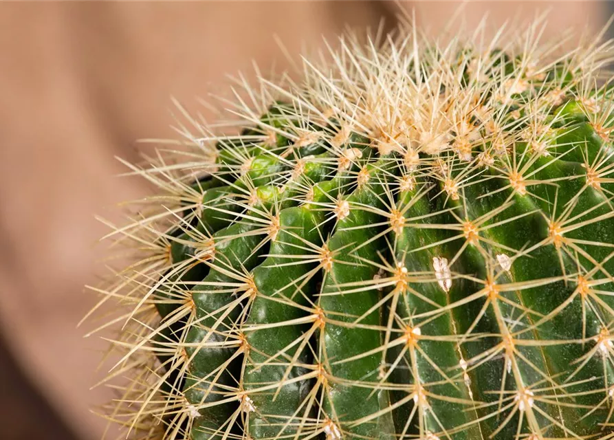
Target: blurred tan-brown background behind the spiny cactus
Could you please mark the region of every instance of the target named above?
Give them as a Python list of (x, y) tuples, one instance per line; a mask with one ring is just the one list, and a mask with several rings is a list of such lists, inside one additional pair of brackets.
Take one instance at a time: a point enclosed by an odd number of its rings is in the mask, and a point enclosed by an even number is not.
[[(0, 2), (0, 439), (99, 439), (90, 408), (111, 397), (92, 384), (106, 343), (76, 329), (102, 274), (94, 219), (144, 194), (114, 156), (135, 140), (174, 137), (171, 96), (197, 107), (226, 74), (285, 69), (346, 25), (388, 28), (415, 8), (437, 34), (457, 1)], [(605, 1), (468, 1), (464, 16), (492, 28), (551, 8), (547, 38), (599, 30)], [(471, 25), (469, 26), (471, 29)], [(138, 148), (148, 148), (139, 146)], [(98, 249), (100, 246), (98, 246)], [(98, 254), (97, 254), (98, 252)]]

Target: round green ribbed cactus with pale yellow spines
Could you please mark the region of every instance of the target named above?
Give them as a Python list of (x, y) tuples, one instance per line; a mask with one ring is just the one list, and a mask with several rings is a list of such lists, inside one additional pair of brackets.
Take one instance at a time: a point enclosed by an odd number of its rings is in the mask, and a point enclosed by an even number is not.
[(122, 437), (614, 439), (614, 47), (543, 25), (179, 107), (95, 288)]

